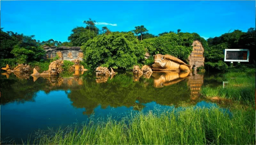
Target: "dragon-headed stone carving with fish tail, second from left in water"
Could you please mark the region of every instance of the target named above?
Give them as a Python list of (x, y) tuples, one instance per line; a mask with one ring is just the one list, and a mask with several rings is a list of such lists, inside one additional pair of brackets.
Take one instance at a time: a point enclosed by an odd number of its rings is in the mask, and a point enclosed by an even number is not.
[(41, 76), (41, 75), (59, 75), (63, 71), (63, 61), (61, 60), (55, 60), (49, 65), (49, 69), (47, 71), (44, 71), (42, 73), (39, 73), (36, 71), (36, 69), (33, 69), (32, 76)]

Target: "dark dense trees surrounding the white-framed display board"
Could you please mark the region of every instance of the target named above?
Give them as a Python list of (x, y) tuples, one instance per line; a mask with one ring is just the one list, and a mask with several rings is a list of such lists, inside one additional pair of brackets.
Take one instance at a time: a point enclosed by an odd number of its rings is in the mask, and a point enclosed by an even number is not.
[[(234, 30), (232, 33), (225, 33), (219, 37), (209, 38), (207, 42), (209, 49), (205, 53), (205, 68), (209, 70), (225, 70), (228, 65), (223, 62), (225, 49), (249, 49), (250, 54), (255, 53), (255, 28), (249, 28), (247, 32)], [(253, 63), (253, 55), (249, 61)]]

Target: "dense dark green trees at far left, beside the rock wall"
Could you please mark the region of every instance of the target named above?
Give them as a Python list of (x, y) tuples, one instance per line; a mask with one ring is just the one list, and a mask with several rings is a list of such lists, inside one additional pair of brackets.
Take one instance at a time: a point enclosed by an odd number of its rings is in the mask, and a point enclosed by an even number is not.
[(45, 51), (40, 43), (36, 42), (34, 36), (25, 36), (12, 31), (6, 33), (1, 29), (1, 66), (2, 62), (15, 64), (16, 62), (40, 61), (44, 57)]

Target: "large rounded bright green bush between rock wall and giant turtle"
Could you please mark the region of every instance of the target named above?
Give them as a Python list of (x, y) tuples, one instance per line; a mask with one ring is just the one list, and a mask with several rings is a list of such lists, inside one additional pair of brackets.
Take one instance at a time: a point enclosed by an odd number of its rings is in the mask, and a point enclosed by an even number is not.
[(81, 49), (86, 64), (91, 68), (102, 65), (115, 69), (131, 69), (142, 61), (145, 54), (143, 45), (138, 43), (132, 32), (98, 35), (84, 43)]

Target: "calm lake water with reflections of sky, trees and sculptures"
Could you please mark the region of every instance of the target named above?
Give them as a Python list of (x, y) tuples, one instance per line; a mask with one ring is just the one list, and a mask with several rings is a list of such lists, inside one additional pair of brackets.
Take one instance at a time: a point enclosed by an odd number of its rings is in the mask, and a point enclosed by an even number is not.
[[(120, 119), (131, 111), (172, 110), (181, 102), (197, 107), (217, 106), (202, 101), (202, 86), (223, 85), (221, 74), (153, 72), (151, 76), (95, 72), (32, 77), (1, 74), (1, 141), (27, 141), (39, 129), (85, 123), (88, 118)], [(49, 128), (48, 128), (49, 127)]]

